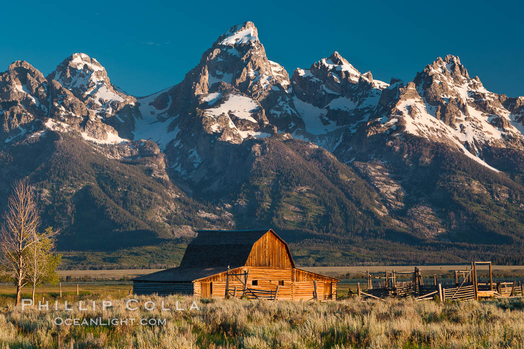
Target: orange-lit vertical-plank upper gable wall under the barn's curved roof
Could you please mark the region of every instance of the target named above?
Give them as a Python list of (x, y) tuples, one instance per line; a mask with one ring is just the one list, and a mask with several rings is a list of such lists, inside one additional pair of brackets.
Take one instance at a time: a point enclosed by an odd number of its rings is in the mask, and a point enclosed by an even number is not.
[(267, 232), (253, 245), (246, 266), (291, 268), (292, 263), (286, 244)]

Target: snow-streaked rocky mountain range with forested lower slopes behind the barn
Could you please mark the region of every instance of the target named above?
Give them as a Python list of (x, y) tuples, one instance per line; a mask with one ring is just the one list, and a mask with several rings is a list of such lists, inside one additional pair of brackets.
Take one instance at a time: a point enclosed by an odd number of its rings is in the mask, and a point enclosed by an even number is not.
[(252, 22), (146, 97), (74, 53), (0, 74), (0, 176), (28, 178), (69, 267), (176, 264), (198, 229), (271, 227), (303, 265), (524, 262), (524, 97), (460, 59), (291, 77)]

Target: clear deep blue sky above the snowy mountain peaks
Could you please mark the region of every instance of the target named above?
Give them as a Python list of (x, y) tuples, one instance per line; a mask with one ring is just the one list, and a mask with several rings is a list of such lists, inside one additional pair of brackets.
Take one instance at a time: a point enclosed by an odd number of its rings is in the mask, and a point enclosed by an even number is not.
[(524, 29), (518, 2), (60, 2), (2, 5), (0, 71), (26, 60), (47, 75), (74, 52), (143, 96), (180, 82), (231, 26), (250, 20), (268, 58), (309, 67), (334, 50), (379, 80), (411, 80), (455, 54), (490, 91), (524, 95)]

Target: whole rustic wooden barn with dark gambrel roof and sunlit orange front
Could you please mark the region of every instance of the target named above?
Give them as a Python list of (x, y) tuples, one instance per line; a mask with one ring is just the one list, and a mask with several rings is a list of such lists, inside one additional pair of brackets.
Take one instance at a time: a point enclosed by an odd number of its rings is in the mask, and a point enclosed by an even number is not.
[(339, 279), (294, 265), (273, 230), (202, 230), (189, 243), (180, 266), (133, 279), (137, 295), (336, 299)]

